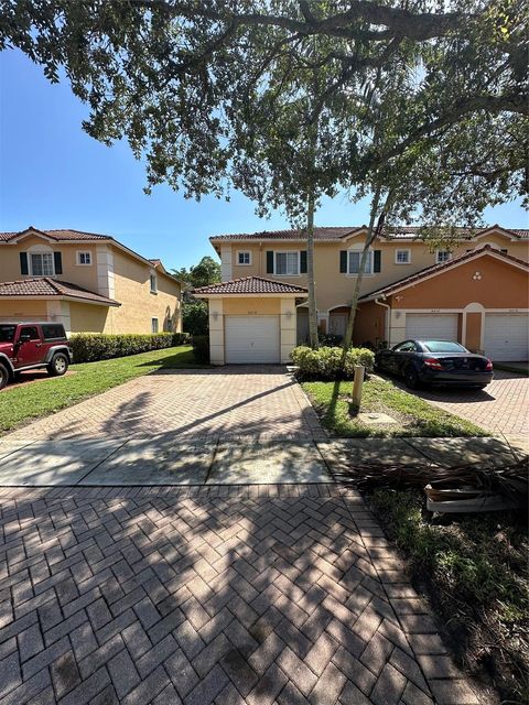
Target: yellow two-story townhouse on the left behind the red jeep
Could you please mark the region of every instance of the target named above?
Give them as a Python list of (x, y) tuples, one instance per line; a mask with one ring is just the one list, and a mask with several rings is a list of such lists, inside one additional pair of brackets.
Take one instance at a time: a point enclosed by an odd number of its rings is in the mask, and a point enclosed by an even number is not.
[(107, 235), (0, 232), (0, 321), (57, 321), (67, 333), (182, 329), (181, 284)]

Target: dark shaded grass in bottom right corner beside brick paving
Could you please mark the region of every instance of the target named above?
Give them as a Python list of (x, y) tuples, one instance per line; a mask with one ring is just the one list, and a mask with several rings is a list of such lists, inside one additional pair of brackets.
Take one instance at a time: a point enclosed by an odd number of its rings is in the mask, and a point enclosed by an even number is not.
[(367, 499), (408, 558), (457, 662), (494, 679), (503, 703), (529, 697), (527, 517), (490, 512), (436, 519), (419, 491), (377, 489)]

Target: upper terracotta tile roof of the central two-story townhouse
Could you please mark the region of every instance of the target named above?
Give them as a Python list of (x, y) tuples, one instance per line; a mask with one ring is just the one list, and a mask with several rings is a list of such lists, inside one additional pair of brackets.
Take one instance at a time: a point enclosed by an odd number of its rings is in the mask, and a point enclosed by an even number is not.
[[(529, 239), (529, 230), (523, 229), (510, 229), (501, 228), (499, 225), (487, 226), (486, 228), (478, 228), (473, 230), (471, 228), (458, 228), (457, 232), (463, 239), (472, 238), (476, 235), (488, 232), (494, 228), (505, 230), (509, 235), (520, 239)], [(366, 226), (350, 226), (350, 227), (322, 227), (314, 228), (315, 240), (332, 240), (339, 241), (349, 235), (355, 232), (361, 232), (366, 230)], [(420, 227), (418, 226), (402, 226), (387, 228), (384, 232), (384, 237), (387, 240), (413, 240), (420, 239)], [(209, 241), (215, 245), (216, 242), (224, 242), (229, 240), (304, 240), (304, 231), (302, 229), (292, 230), (262, 230), (261, 232), (240, 232), (231, 235), (215, 235), (209, 238)]]

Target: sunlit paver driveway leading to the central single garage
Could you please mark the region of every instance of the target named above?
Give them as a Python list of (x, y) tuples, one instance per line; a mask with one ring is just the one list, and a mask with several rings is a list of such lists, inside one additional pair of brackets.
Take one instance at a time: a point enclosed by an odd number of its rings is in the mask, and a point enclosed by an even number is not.
[[(165, 370), (24, 426), (10, 438), (188, 436), (312, 438), (316, 414), (284, 367)], [(323, 437), (323, 436), (322, 436)]]

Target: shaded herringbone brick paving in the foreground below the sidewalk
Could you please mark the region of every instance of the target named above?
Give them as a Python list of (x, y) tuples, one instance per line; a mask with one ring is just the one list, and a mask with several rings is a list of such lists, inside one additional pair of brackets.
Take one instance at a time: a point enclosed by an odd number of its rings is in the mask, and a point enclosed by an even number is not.
[(337, 486), (0, 489), (0, 704), (477, 703)]

